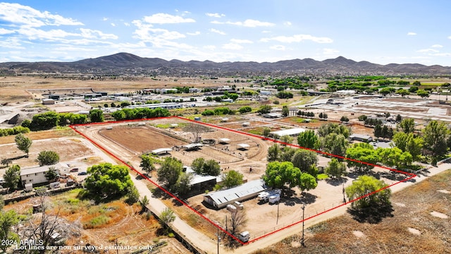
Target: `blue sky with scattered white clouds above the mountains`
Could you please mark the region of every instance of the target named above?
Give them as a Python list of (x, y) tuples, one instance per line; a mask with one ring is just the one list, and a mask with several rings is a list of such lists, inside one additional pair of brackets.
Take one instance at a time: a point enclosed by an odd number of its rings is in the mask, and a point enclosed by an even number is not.
[(1, 2), (0, 62), (128, 52), (183, 61), (345, 56), (451, 66), (450, 10), (447, 0)]

